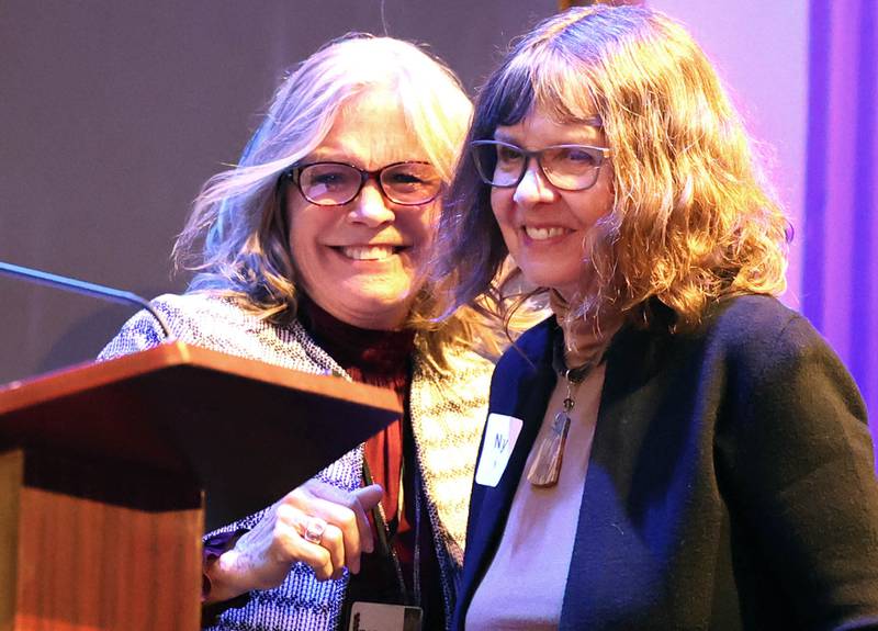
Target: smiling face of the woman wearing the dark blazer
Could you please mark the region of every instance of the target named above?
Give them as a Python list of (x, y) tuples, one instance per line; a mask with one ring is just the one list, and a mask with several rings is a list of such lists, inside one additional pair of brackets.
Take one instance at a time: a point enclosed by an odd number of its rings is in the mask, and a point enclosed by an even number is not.
[[(494, 138), (528, 150), (552, 145), (606, 147), (598, 127), (559, 124), (539, 109), (515, 125), (498, 126)], [(531, 283), (558, 290), (571, 300), (589, 274), (585, 239), (595, 223), (612, 210), (612, 169), (600, 167), (595, 184), (584, 191), (553, 187), (531, 159), (517, 187), (494, 188), (491, 206), (509, 253)]]

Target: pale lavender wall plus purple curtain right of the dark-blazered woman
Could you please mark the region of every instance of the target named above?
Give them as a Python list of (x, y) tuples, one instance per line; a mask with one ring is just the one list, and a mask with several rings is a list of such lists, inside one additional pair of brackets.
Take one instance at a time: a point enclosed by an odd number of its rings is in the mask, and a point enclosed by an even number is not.
[(689, 26), (775, 148), (772, 177), (796, 229), (784, 301), (848, 367), (878, 437), (878, 3), (648, 4)]

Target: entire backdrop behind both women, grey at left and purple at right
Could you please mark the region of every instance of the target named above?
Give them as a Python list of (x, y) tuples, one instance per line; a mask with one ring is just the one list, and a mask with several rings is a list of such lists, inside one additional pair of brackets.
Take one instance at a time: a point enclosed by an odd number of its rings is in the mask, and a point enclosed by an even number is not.
[[(797, 238), (785, 302), (878, 414), (876, 4), (649, 0), (733, 87)], [(810, 8), (810, 10), (809, 10)], [(555, 0), (0, 4), (0, 260), (146, 296), (201, 183), (237, 158), (283, 72), (369, 31), (429, 42), (473, 92)], [(132, 309), (0, 278), (0, 383), (90, 360)], [(878, 419), (874, 419), (878, 422)]]

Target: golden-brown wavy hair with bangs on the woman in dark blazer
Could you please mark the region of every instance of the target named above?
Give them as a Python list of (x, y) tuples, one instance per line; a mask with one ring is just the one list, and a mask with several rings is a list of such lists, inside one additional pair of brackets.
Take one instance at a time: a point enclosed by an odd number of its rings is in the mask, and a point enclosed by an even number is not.
[[(612, 153), (612, 211), (584, 245), (597, 281), (572, 305), (575, 316), (616, 313), (649, 326), (661, 303), (685, 330), (723, 296), (784, 291), (789, 224), (741, 116), (682, 25), (608, 5), (540, 23), (488, 78), (468, 140), (534, 110), (562, 124), (598, 116)], [(466, 155), (440, 219), (437, 278), (451, 279), (452, 304), (483, 296), (508, 316), (509, 279), (499, 274), (508, 250), (489, 194)]]

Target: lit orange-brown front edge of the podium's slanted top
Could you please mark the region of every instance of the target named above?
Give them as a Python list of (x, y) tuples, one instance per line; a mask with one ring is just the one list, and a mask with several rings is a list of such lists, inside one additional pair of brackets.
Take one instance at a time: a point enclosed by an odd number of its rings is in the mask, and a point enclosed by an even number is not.
[(139, 352), (105, 361), (85, 362), (2, 385), (0, 416), (47, 399), (74, 395), (176, 367), (225, 373), (399, 415), (403, 413), (396, 394), (386, 388), (351, 383), (334, 375), (301, 372), (172, 340)]

